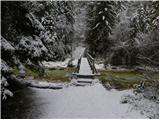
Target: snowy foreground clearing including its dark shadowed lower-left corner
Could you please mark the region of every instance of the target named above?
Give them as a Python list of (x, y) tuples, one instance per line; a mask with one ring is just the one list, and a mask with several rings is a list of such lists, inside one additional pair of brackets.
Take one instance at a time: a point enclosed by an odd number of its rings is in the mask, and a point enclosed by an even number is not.
[(2, 105), (2, 118), (145, 118), (120, 99), (132, 90), (106, 90), (101, 83), (60, 90), (25, 88)]

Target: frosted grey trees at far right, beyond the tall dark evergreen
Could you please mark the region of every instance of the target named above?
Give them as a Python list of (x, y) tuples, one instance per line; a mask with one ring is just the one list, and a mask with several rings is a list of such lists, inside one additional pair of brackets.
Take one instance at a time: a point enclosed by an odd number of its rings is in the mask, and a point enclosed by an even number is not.
[(110, 36), (114, 43), (108, 53), (111, 54), (111, 64), (157, 65), (159, 15), (158, 4), (155, 3), (157, 1), (128, 2), (126, 9), (119, 13), (120, 17)]

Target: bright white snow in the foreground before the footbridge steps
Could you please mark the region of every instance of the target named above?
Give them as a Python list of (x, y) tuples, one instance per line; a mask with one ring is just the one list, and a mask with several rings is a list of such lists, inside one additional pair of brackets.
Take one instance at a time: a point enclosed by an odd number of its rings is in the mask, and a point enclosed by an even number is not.
[[(69, 86), (58, 91), (32, 89), (41, 105), (38, 118), (146, 118), (130, 104), (121, 104), (123, 95), (132, 90), (107, 91), (100, 83), (91, 86)], [(36, 110), (32, 111), (33, 114)]]

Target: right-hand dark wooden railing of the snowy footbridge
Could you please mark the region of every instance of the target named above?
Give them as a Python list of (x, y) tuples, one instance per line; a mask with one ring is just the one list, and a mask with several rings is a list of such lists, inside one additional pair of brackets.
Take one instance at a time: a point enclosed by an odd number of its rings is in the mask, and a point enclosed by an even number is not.
[(86, 57), (87, 57), (87, 60), (89, 62), (89, 65), (91, 67), (92, 73), (93, 74), (97, 73), (97, 70), (96, 70), (96, 67), (95, 67), (94, 58), (89, 53), (86, 53)]

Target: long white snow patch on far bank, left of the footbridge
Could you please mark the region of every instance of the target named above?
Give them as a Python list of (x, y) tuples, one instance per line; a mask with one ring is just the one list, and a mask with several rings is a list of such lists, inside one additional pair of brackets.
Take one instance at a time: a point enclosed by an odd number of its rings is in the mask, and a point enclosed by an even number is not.
[(42, 65), (46, 68), (66, 68), (69, 60), (70, 58), (67, 58), (65, 61), (43, 61)]

